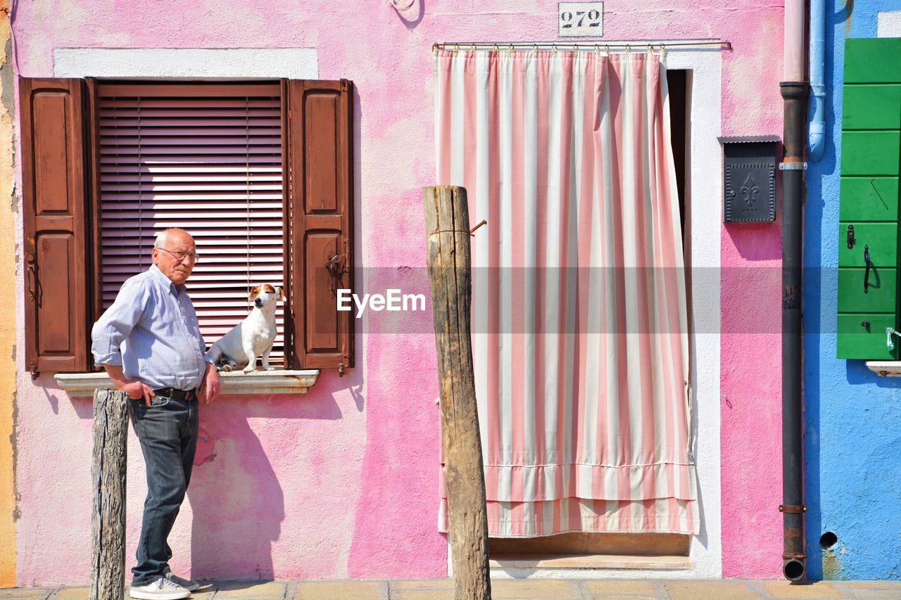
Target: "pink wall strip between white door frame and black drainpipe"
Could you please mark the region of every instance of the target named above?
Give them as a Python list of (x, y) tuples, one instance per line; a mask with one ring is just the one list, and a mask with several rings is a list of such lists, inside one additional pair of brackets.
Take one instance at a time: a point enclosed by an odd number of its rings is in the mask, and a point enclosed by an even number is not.
[[(751, 6), (755, 3), (742, 3)], [(782, 135), (782, 3), (734, 15), (724, 55), (723, 135)], [(781, 152), (781, 147), (778, 148)], [(782, 569), (782, 233), (723, 226), (720, 411), (724, 577)]]

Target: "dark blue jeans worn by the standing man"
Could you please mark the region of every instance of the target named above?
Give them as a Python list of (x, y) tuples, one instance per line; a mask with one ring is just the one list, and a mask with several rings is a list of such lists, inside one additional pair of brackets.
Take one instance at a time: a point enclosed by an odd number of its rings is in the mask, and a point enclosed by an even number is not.
[(169, 570), (172, 550), (166, 540), (185, 499), (197, 448), (196, 400), (156, 395), (151, 404), (130, 401), (132, 427), (147, 465), (147, 499), (132, 586), (146, 586)]

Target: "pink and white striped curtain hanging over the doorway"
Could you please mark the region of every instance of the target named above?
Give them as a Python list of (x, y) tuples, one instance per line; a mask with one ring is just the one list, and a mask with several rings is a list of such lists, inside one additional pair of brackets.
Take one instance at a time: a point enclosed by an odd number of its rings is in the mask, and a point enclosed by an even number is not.
[(489, 534), (696, 533), (660, 54), (439, 50), (435, 111), (438, 183), (487, 220), (472, 341)]

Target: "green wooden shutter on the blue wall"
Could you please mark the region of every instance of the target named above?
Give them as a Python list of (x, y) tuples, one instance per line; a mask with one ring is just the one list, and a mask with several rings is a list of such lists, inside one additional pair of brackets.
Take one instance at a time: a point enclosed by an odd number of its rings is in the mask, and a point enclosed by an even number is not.
[[(839, 205), (838, 358), (898, 358), (901, 40), (845, 41)], [(853, 242), (849, 242), (849, 226)], [(851, 246), (849, 248), (849, 246)], [(865, 254), (869, 254), (867, 276)], [(864, 286), (865, 279), (867, 286)]]

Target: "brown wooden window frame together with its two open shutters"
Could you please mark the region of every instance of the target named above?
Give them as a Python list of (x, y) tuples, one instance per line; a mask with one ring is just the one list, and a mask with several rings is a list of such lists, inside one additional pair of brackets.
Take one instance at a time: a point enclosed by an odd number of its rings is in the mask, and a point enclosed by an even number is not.
[[(32, 372), (32, 377), (38, 377), (41, 372), (93, 370), (89, 332), (101, 314), (102, 302), (99, 287), (101, 257), (97, 248), (100, 220), (95, 218), (100, 202), (99, 160), (96, 154), (99, 148), (98, 86), (116, 80), (20, 77), (25, 179), (23, 228), (27, 263), (24, 286), (25, 368)], [(133, 84), (137, 81), (163, 83), (164, 80), (145, 78), (127, 81)], [(165, 81), (175, 83), (177, 80)], [(204, 83), (207, 81), (223, 85), (235, 83), (233, 79), (224, 78), (204, 80)], [(284, 240), (288, 295), (284, 326), (287, 368), (337, 368), (342, 375), (345, 368), (353, 367), (354, 319), (350, 313), (337, 311), (334, 297), (330, 294), (330, 284), (353, 288), (353, 214), (356, 202), (353, 83), (347, 79), (279, 81), (283, 106), (282, 193), (286, 206), (283, 232), (287, 232)], [(193, 82), (197, 83), (197, 80)], [(47, 105), (47, 97), (66, 96), (63, 110), (54, 109), (48, 113), (46, 109), (41, 109), (45, 119), (50, 115), (51, 123), (45, 122), (40, 129), (33, 123), (41, 119), (32, 118), (38, 102), (35, 98), (39, 95), (44, 95), (45, 99), (41, 100), (43, 105)], [(63, 133), (50, 136), (48, 128), (56, 128), (54, 132)], [(40, 227), (35, 230), (36, 215), (43, 217), (48, 210), (52, 212), (55, 209), (52, 206), (46, 208), (54, 201), (47, 189), (41, 189), (47, 186), (39, 185), (39, 178), (35, 175), (40, 170), (41, 161), (47, 162), (35, 150), (36, 142), (39, 146), (50, 143), (55, 148), (74, 148), (71, 152), (58, 151), (62, 158), (50, 159), (51, 163), (57, 161), (50, 165), (52, 175), (56, 177), (50, 184), (68, 189), (66, 202), (71, 213), (68, 217), (71, 226), (62, 233), (68, 236), (70, 248), (75, 250), (67, 250), (66, 256), (73, 252), (77, 255), (74, 259), (68, 257), (65, 273), (60, 272), (62, 263), (59, 256), (46, 259), (37, 251), (41, 236), (48, 235), (48, 232)], [(67, 154), (76, 156), (76, 159), (60, 162), (66, 160)], [(313, 156), (315, 159), (311, 160)], [(50, 233), (50, 238), (53, 235), (59, 237), (56, 232)], [(332, 256), (341, 257), (341, 268), (335, 272), (325, 267)], [(72, 266), (73, 260), (75, 266)], [(41, 294), (30, 298), (28, 290), (31, 288), (27, 280), (30, 276), (33, 276), (32, 286), (39, 290), (43, 280), (48, 281), (48, 286), (52, 282), (54, 295), (63, 299), (42, 304)], [(65, 276), (68, 288), (59, 290), (55, 276)], [(68, 312), (66, 323), (76, 323), (68, 329), (54, 323), (48, 316), (47, 306), (57, 309), (60, 303), (66, 306)], [(56, 347), (48, 350), (44, 343), (47, 336), (54, 339)], [(59, 339), (62, 341), (59, 342)], [(67, 343), (68, 350), (63, 347)]]

